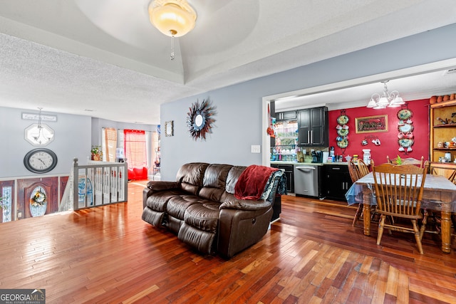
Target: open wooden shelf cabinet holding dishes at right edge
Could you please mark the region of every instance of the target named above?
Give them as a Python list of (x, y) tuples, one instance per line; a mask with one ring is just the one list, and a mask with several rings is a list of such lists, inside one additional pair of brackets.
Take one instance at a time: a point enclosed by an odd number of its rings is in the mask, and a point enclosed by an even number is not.
[(456, 146), (456, 100), (430, 105), (430, 160), (438, 162), (446, 159), (455, 161)]

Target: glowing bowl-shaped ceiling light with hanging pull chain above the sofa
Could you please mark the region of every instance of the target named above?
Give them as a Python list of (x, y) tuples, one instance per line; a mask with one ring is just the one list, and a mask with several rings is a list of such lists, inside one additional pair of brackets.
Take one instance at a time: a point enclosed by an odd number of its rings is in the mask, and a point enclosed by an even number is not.
[(153, 0), (149, 5), (149, 18), (158, 31), (172, 37), (171, 60), (174, 60), (174, 38), (195, 28), (197, 13), (186, 0)]

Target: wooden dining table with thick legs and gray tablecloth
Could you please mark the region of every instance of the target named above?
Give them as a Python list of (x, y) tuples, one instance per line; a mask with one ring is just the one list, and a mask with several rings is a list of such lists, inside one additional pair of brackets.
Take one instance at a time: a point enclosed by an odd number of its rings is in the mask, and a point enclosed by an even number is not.
[[(371, 235), (371, 205), (376, 205), (373, 173), (353, 183), (346, 194), (348, 204), (363, 204), (364, 234)], [(440, 211), (442, 251), (451, 251), (451, 214), (456, 212), (456, 184), (440, 175), (426, 174), (421, 209)]]

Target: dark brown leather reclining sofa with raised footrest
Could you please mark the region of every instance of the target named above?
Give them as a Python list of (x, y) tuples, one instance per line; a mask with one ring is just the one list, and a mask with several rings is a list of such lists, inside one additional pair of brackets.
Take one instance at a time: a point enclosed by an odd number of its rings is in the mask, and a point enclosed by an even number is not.
[[(234, 197), (247, 167), (202, 162), (184, 164), (176, 182), (151, 181), (143, 191), (142, 219), (166, 227), (201, 253), (225, 258), (257, 243), (266, 234), (281, 172), (271, 174), (266, 199)], [(261, 196), (261, 197), (263, 197)]]

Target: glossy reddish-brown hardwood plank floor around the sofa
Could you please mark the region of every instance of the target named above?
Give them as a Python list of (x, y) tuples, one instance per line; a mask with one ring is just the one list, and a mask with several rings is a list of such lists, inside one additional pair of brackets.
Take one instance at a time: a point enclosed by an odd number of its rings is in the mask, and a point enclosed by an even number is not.
[(0, 288), (45, 288), (47, 303), (456, 303), (437, 235), (423, 256), (411, 234), (377, 246), (354, 207), (283, 196), (281, 219), (226, 261), (142, 221), (145, 183), (128, 203), (1, 224)]

